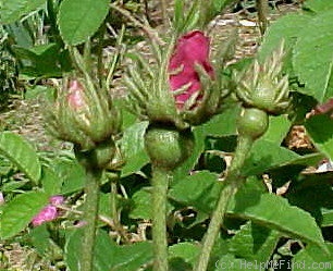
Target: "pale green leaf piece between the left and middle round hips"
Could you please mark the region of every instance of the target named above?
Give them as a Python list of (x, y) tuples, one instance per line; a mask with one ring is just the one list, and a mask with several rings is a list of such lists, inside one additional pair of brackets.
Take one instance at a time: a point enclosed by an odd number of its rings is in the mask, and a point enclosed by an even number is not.
[(122, 169), (122, 176), (139, 171), (149, 162), (145, 149), (145, 133), (148, 122), (139, 122), (127, 127), (121, 139), (122, 153), (125, 156), (125, 165)]

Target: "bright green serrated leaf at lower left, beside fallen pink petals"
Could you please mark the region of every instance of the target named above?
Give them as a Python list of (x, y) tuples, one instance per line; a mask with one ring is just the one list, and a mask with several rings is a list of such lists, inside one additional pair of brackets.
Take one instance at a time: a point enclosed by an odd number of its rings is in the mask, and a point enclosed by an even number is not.
[(9, 238), (24, 230), (32, 219), (48, 204), (48, 195), (29, 192), (15, 197), (2, 209), (0, 237)]

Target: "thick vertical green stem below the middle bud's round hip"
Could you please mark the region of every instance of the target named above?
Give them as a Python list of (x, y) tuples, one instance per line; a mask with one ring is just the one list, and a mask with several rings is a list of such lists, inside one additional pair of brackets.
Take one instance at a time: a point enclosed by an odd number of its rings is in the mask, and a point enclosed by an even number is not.
[(171, 172), (153, 167), (152, 169), (152, 244), (155, 252), (153, 271), (168, 271), (166, 241), (166, 193)]

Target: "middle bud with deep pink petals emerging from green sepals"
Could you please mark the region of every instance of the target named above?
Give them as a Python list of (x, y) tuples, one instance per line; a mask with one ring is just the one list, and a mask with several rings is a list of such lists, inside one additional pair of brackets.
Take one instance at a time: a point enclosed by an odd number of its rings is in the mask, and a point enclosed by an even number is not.
[[(153, 41), (152, 41), (153, 42)], [(200, 30), (171, 39), (168, 48), (152, 46), (156, 61), (136, 56), (124, 83), (133, 111), (150, 123), (186, 130), (219, 112), (230, 91), (221, 87), (209, 60), (210, 39)]]

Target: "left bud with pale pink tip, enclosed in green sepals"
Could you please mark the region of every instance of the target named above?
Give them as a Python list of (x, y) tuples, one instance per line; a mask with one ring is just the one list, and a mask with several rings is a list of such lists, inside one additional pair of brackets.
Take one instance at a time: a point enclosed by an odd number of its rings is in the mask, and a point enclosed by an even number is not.
[(120, 131), (120, 114), (106, 89), (72, 79), (49, 110), (47, 124), (55, 137), (89, 150)]

